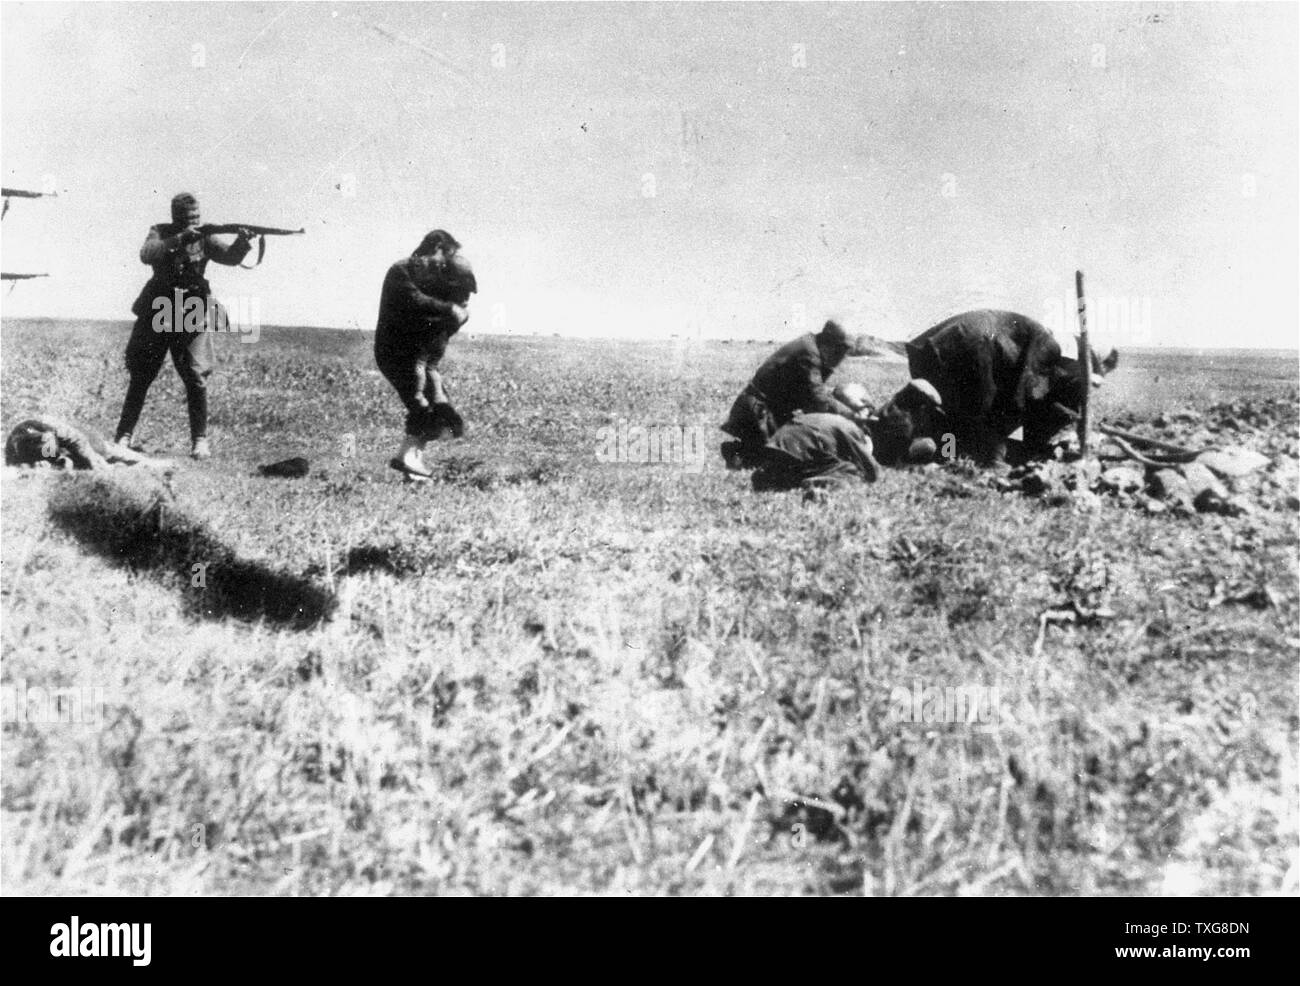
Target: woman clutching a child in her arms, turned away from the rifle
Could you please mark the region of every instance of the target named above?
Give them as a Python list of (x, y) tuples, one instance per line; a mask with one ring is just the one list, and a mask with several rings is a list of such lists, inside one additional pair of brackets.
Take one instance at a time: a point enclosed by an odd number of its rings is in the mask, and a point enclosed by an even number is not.
[(447, 432), (464, 433), (451, 407), (438, 363), (447, 342), (469, 320), (469, 295), (478, 290), (460, 243), (436, 229), (404, 260), (389, 268), (380, 293), (374, 362), (407, 408), (406, 436), (389, 466), (410, 480), (433, 473), (424, 446)]

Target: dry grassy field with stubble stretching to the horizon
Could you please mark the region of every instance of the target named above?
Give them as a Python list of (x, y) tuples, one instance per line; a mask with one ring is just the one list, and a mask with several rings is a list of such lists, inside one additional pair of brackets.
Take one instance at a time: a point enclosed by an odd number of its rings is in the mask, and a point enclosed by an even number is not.
[[(109, 433), (126, 332), (6, 321), (5, 429)], [(103, 697), (6, 717), (5, 892), (1296, 892), (1294, 355), (1101, 392), (1284, 398), (1230, 519), (963, 463), (754, 494), (715, 427), (760, 343), (458, 338), (469, 433), (408, 486), (369, 333), (220, 342), (211, 462), (4, 471), (3, 682)], [(602, 462), (623, 423), (702, 429), (702, 467)], [(139, 437), (186, 450), (170, 367)]]

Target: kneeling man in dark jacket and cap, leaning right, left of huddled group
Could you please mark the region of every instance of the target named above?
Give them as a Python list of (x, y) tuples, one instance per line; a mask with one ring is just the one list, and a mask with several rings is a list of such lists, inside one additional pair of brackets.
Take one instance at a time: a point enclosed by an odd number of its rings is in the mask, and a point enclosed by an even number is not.
[(722, 425), (736, 438), (723, 442), (727, 466), (758, 464), (763, 446), (796, 411), (837, 414), (857, 420), (861, 408), (844, 403), (826, 385), (849, 347), (849, 336), (840, 323), (827, 321), (822, 332), (800, 336), (768, 356), (736, 398)]

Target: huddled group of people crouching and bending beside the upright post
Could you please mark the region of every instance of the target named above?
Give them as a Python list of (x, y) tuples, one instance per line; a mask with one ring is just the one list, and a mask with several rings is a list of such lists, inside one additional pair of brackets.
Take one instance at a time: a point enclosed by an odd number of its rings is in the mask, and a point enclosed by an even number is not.
[(1080, 366), (1032, 319), (970, 311), (906, 342), (913, 379), (874, 407), (861, 386), (827, 384), (850, 350), (832, 320), (774, 353), (722, 425), (732, 436), (722, 449), (728, 467), (751, 467), (754, 489), (809, 489), (874, 483), (881, 463), (1041, 458), (1118, 362), (1089, 349)]

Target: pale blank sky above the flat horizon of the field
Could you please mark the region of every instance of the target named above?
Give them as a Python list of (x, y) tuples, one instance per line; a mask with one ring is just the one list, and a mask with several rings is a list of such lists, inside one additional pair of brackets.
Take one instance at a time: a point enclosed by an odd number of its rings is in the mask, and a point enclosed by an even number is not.
[[(1295, 4), (4, 4), (6, 315), (126, 319), (138, 250), (264, 324), (373, 328), (465, 245), (469, 329), (905, 338), (972, 307), (1117, 345), (1297, 341)], [(1109, 308), (1102, 304), (1110, 299)], [(1119, 302), (1123, 302), (1122, 304)]]

